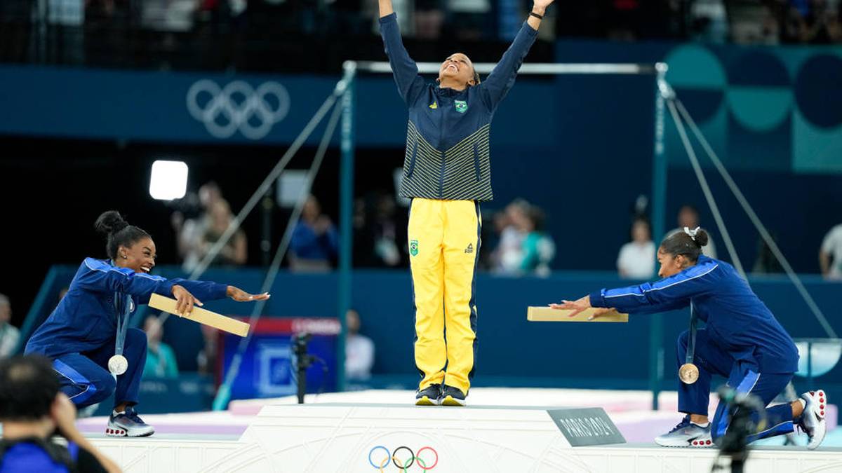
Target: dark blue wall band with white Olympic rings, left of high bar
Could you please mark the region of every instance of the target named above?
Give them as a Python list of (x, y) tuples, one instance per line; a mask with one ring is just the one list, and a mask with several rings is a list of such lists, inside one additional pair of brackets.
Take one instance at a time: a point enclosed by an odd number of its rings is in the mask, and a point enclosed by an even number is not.
[(0, 133), (287, 144), (333, 92), (338, 76), (0, 66), (0, 79)]

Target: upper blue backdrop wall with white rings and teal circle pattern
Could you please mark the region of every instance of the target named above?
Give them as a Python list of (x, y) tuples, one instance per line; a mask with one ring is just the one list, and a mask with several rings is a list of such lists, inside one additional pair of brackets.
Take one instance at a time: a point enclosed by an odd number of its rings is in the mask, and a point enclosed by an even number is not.
[[(792, 266), (818, 272), (822, 238), (842, 221), (842, 48), (565, 41), (556, 50), (561, 62), (666, 61), (669, 82)], [(4, 65), (0, 136), (281, 148), (338, 78)], [(242, 107), (235, 91), (259, 91), (269, 109), (249, 115), (248, 125), (224, 125)], [(402, 154), (406, 112), (391, 77), (361, 74), (356, 91), (357, 173), (365, 173), (377, 166), (367, 149)], [(211, 98), (220, 99), (216, 108)], [(557, 242), (552, 268), (613, 268), (633, 202), (652, 192), (653, 77), (521, 76), (493, 123), (495, 199), (483, 208), (528, 199), (546, 210), (546, 230)], [(680, 205), (695, 204), (719, 257), (730, 260), (669, 117), (665, 152), (664, 228), (675, 225)], [(758, 233), (706, 158), (701, 162), (751, 268)]]

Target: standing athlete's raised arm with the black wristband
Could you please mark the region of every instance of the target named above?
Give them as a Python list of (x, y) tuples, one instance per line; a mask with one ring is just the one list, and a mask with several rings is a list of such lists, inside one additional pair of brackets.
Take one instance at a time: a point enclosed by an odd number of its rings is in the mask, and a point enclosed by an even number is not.
[(535, 0), (532, 4), (532, 12), (520, 28), (518, 35), (514, 37), (512, 45), (506, 50), (503, 57), (494, 66), (488, 78), (480, 84), (482, 97), (485, 99), (489, 109), (496, 109), (498, 104), (505, 98), (506, 93), (514, 85), (514, 77), (523, 63), (526, 53), (529, 52), (532, 43), (538, 35), (538, 27), (541, 26), (541, 19), (546, 13), (546, 8), (553, 0)]

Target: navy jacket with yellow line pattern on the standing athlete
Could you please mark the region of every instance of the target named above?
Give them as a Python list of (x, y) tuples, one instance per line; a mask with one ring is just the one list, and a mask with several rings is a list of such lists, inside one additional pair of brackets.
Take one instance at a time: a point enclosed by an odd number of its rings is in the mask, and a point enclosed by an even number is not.
[(418, 75), (418, 66), (403, 47), (395, 13), (382, 17), (380, 27), (397, 90), (409, 109), (400, 196), (493, 199), (488, 146), (491, 120), (514, 85), (538, 32), (524, 22), (488, 77), (457, 91), (425, 82)]

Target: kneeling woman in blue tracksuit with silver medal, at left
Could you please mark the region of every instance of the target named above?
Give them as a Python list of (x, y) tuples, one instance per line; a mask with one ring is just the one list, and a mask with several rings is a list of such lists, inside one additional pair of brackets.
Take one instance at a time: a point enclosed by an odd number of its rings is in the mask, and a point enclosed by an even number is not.
[[(155, 242), (146, 231), (129, 225), (114, 210), (99, 215), (95, 226), (108, 237), (109, 259), (85, 258), (67, 295), (29, 338), (26, 353), (43, 353), (53, 360), (61, 391), (77, 407), (115, 394), (107, 435), (152, 435), (154, 428), (134, 409), (146, 364), (147, 337), (136, 328), (118, 331), (118, 326), (125, 327), (137, 306), (147, 304), (153, 293), (174, 297), (179, 312), (191, 311), (194, 304), (201, 306), (202, 300), (265, 300), (269, 295), (250, 295), (226, 284), (152, 276)], [(128, 360), (128, 369), (116, 376), (108, 370), (115, 351)]]

